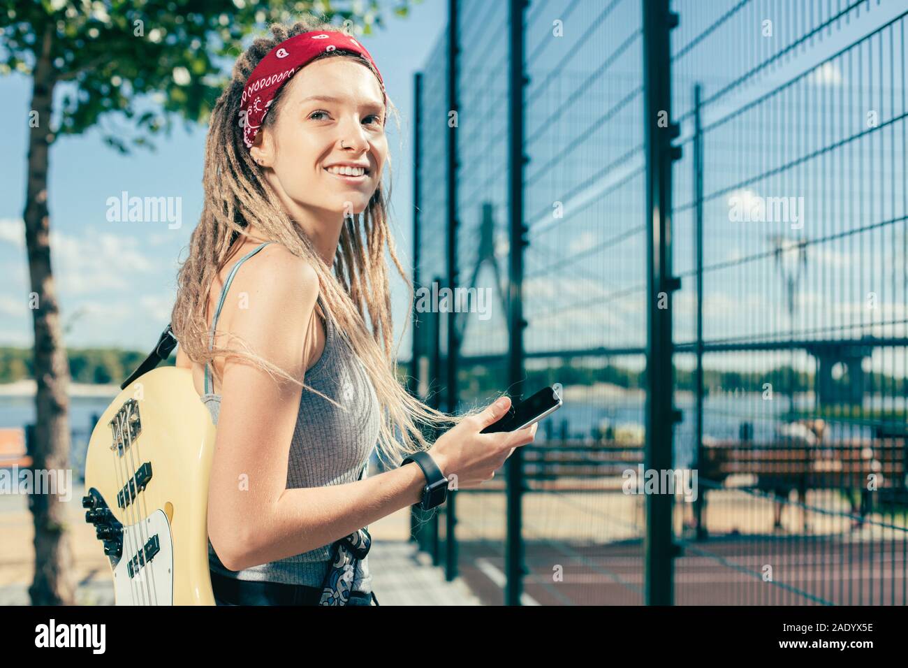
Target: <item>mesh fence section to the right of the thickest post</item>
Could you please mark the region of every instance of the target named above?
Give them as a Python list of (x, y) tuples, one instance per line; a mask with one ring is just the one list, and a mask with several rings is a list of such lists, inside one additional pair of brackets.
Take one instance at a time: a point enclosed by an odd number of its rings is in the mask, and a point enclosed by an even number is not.
[(672, 52), (676, 599), (904, 604), (905, 5), (707, 5)]

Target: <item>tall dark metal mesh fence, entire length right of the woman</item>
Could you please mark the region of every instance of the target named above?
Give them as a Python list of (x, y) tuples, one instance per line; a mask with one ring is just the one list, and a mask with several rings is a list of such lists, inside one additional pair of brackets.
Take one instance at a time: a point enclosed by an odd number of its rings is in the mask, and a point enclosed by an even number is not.
[(908, 602), (904, 5), (449, 8), (413, 391), (565, 405), (423, 548), (488, 603)]

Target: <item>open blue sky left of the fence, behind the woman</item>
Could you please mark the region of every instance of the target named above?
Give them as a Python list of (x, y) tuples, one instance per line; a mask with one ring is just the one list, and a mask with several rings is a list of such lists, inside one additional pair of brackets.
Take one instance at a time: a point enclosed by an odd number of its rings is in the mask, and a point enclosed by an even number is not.
[[(413, 75), (426, 61), (447, 21), (447, 3), (424, 0), (410, 16), (387, 14), (387, 27), (362, 41), (378, 63), (388, 93), (400, 112), (400, 134), (388, 124), (393, 164), (392, 226), (401, 262), (411, 266)], [(58, 91), (58, 94), (60, 91)], [(0, 78), (0, 345), (32, 344), (30, 291), (22, 213), (30, 79)], [(57, 98), (59, 100), (59, 98)], [(109, 118), (107, 123), (123, 124)], [(116, 126), (114, 125), (114, 126)], [(202, 159), (206, 127), (173, 127), (158, 137), (157, 152), (121, 156), (106, 147), (96, 128), (60, 139), (51, 150), (49, 194), (52, 262), (67, 345), (119, 346), (150, 350), (169, 322), (176, 290), (178, 259), (202, 212)], [(386, 176), (386, 179), (388, 177)], [(130, 196), (182, 197), (182, 224), (107, 221), (107, 199)], [(394, 272), (391, 273), (393, 280)], [(392, 284), (396, 336), (407, 311), (406, 289)], [(400, 356), (410, 355), (410, 335)]]

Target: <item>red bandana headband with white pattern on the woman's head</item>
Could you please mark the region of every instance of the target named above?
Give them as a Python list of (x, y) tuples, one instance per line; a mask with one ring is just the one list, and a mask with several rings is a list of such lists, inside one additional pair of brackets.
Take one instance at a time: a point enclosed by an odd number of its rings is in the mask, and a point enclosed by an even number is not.
[[(240, 125), (242, 125), (242, 139), (246, 148), (252, 148), (255, 135), (259, 132), (265, 115), (268, 114), (268, 107), (271, 106), (274, 95), (277, 95), (281, 86), (317, 55), (335, 49), (345, 49), (360, 54), (375, 67), (375, 72), (379, 75), (381, 95), (387, 104), (385, 84), (381, 79), (378, 65), (375, 65), (375, 61), (372, 60), (372, 56), (366, 51), (365, 46), (360, 45), (350, 35), (335, 31), (316, 30), (311, 33), (294, 35), (275, 46), (262, 58), (262, 62), (252, 70), (252, 75), (249, 76), (246, 86), (242, 89)], [(387, 114), (385, 123), (388, 123)]]

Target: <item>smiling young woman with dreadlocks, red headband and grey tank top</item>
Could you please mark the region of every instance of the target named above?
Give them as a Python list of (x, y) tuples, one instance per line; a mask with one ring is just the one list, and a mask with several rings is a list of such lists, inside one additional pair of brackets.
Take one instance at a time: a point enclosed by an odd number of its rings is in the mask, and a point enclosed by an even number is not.
[[(405, 457), (428, 451), (436, 475), (468, 489), (536, 433), (479, 434), (506, 396), (452, 416), (397, 380), (385, 244), (407, 275), (381, 187), (388, 111), (366, 50), (311, 16), (255, 40), (212, 111), (172, 327), (217, 425), (218, 604), (320, 604), (332, 543), (426, 498), (424, 455)], [(429, 444), (427, 426), (449, 430)], [(375, 448), (396, 468), (364, 477)], [(368, 561), (348, 604), (377, 600)]]

